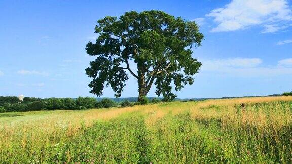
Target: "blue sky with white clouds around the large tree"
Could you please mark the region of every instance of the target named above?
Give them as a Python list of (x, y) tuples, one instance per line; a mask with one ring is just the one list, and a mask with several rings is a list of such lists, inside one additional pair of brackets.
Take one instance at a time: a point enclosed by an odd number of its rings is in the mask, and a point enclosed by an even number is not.
[[(162, 10), (195, 20), (205, 35), (193, 57), (195, 83), (179, 98), (292, 91), (292, 1), (0, 1), (0, 95), (94, 96), (84, 69), (96, 21), (126, 11)], [(148, 96), (155, 96), (153, 88)], [(106, 88), (103, 97), (114, 97)], [(122, 97), (137, 96), (129, 79)]]

